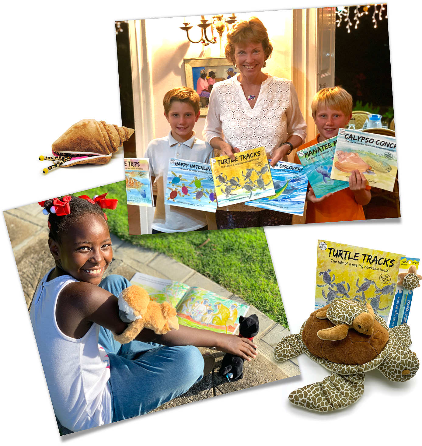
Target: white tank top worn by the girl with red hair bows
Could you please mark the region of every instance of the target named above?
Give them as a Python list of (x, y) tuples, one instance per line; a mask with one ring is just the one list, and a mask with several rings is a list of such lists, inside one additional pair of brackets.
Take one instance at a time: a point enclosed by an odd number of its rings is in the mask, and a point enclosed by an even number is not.
[(30, 318), (54, 413), (73, 431), (111, 423), (110, 361), (98, 344), (99, 325), (93, 323), (81, 339), (61, 332), (56, 321), (57, 297), (77, 280), (60, 276), (47, 282), (49, 273), (38, 285)]

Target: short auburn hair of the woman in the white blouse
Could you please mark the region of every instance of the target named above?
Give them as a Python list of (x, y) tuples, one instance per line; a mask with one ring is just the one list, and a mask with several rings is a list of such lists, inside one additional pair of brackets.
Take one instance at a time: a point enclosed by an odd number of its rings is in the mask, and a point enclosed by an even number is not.
[(234, 59), (234, 46), (246, 42), (262, 43), (262, 49), (266, 55), (265, 60), (270, 57), (273, 51), (273, 45), (271, 45), (268, 38), (266, 27), (258, 17), (250, 17), (249, 20), (238, 21), (227, 34), (225, 58), (233, 65), (236, 62)]

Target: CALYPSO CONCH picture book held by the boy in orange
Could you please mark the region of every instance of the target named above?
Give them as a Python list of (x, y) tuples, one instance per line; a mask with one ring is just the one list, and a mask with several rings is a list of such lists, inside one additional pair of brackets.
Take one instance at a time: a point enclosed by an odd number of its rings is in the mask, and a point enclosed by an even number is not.
[(396, 138), (340, 128), (331, 178), (349, 181), (358, 169), (369, 186), (393, 190), (397, 174)]

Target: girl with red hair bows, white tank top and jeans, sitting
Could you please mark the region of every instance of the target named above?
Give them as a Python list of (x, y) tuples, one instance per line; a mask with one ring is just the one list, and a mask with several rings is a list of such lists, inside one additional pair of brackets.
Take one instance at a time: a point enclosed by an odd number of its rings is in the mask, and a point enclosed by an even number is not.
[(105, 195), (40, 202), (56, 266), (41, 280), (30, 317), (54, 412), (72, 431), (142, 415), (186, 392), (212, 368), (204, 369), (196, 347), (256, 356), (249, 339), (186, 326), (114, 340), (127, 327), (116, 296), (131, 284), (102, 279), (113, 258), (102, 208), (117, 204)]

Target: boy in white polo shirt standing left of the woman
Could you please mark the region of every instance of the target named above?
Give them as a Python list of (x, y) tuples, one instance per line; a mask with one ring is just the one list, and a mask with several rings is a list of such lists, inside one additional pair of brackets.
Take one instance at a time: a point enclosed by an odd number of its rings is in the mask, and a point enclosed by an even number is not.
[(213, 148), (196, 137), (193, 126), (199, 118), (199, 95), (192, 88), (173, 88), (164, 95), (164, 116), (171, 130), (164, 138), (148, 144), (145, 157), (149, 158), (152, 182), (157, 180), (157, 203), (152, 234), (206, 230), (205, 212), (171, 206), (164, 202), (168, 161), (180, 158), (209, 163)]

